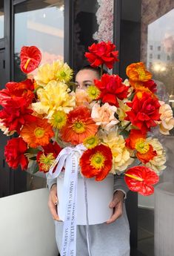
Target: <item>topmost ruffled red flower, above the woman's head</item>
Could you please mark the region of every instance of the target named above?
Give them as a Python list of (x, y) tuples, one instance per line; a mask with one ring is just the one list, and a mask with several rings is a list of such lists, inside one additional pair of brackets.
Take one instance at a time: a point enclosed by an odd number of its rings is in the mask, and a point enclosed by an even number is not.
[(107, 68), (113, 68), (114, 62), (118, 62), (118, 50), (111, 42), (100, 42), (88, 47), (89, 53), (84, 56), (93, 68), (105, 64)]

